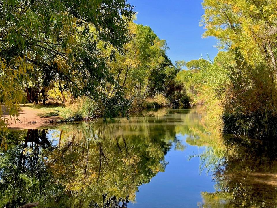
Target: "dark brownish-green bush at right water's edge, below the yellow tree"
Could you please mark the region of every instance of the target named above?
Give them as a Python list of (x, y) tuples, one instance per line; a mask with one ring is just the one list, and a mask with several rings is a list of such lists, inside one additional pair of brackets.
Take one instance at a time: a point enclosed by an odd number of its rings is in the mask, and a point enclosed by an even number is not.
[(267, 63), (248, 64), (237, 53), (223, 101), (224, 132), (254, 137), (277, 136), (275, 72)]

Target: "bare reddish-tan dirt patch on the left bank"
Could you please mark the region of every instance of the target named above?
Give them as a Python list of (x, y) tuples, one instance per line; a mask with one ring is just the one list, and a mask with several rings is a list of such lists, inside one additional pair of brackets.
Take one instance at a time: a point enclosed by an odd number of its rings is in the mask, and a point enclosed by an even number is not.
[(21, 111), (19, 112), (18, 119), (20, 122), (14, 122), (15, 120), (10, 118), (5, 106), (2, 106), (3, 116), (9, 119), (8, 128), (16, 128), (16, 129), (28, 129), (28, 128), (38, 128), (43, 125), (53, 123), (59, 118), (57, 116), (49, 117), (49, 118), (40, 118), (37, 114), (42, 113), (40, 109), (26, 107), (24, 105), (21, 106)]

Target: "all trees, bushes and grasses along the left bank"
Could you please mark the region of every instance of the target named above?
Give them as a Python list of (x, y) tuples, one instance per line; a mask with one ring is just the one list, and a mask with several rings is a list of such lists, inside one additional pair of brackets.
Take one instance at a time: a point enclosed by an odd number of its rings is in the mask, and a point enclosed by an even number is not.
[(134, 23), (134, 6), (126, 1), (1, 5), (1, 136), (7, 116), (19, 122), (22, 104), (65, 103), (50, 112), (38, 107), (44, 110), (38, 119), (60, 116), (62, 122), (98, 112), (106, 122), (143, 107), (189, 104), (175, 79), (186, 62), (169, 59), (166, 40)]

